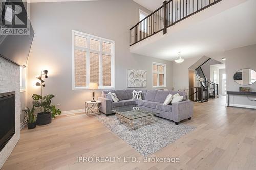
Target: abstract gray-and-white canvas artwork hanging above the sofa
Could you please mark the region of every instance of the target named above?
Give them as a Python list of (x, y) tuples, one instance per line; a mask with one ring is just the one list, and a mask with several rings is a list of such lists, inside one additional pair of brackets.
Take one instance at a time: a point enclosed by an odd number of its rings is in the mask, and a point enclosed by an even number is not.
[(145, 70), (127, 70), (127, 87), (146, 87), (147, 76)]

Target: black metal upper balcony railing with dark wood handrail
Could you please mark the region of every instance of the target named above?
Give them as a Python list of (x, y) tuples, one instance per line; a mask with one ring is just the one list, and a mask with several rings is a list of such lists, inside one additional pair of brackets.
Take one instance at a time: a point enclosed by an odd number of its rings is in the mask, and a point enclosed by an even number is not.
[(160, 32), (175, 23), (214, 5), (221, 0), (169, 0), (130, 29), (130, 46)]

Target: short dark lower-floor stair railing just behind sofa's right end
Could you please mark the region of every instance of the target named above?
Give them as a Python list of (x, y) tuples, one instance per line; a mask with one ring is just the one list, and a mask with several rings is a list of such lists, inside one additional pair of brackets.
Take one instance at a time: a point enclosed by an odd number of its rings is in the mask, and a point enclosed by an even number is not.
[(208, 87), (190, 87), (189, 100), (194, 102), (207, 102), (209, 101)]

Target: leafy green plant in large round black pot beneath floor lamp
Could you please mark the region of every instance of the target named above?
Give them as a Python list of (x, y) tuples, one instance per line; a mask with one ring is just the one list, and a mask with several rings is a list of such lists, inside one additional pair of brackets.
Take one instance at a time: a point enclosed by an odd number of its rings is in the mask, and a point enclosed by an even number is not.
[(51, 99), (54, 98), (53, 94), (41, 96), (39, 94), (33, 94), (33, 106), (40, 109), (40, 113), (37, 114), (37, 125), (46, 125), (52, 122), (52, 116), (50, 112)]

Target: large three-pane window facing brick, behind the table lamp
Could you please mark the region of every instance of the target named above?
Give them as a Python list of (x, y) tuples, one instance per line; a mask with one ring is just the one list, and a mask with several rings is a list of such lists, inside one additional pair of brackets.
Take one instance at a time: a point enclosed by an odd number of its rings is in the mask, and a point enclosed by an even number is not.
[(72, 47), (73, 90), (114, 88), (114, 41), (73, 30)]

